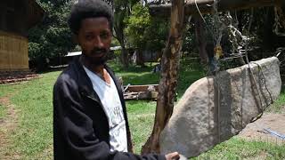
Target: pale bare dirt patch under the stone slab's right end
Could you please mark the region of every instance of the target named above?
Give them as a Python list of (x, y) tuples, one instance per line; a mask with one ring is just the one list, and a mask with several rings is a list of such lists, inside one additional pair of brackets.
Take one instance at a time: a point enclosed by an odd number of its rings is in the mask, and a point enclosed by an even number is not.
[(285, 144), (285, 140), (277, 138), (266, 132), (264, 129), (278, 132), (285, 135), (285, 114), (265, 113), (256, 122), (248, 124), (247, 127), (240, 132), (238, 137), (247, 140), (262, 140), (265, 142), (273, 142), (275, 144)]

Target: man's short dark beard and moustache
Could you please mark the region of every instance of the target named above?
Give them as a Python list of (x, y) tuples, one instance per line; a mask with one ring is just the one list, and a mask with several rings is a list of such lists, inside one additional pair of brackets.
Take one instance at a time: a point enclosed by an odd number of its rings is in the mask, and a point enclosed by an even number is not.
[[(101, 54), (101, 57), (96, 57), (96, 54)], [(106, 49), (94, 48), (89, 54), (85, 54), (85, 51), (82, 51), (82, 55), (85, 60), (88, 60), (89, 63), (93, 66), (102, 66), (108, 60), (109, 51)]]

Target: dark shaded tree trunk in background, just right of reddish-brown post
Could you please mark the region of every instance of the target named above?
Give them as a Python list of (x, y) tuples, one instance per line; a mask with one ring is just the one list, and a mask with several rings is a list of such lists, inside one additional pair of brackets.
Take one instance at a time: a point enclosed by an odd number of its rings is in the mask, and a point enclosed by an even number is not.
[(199, 16), (195, 17), (195, 36), (198, 45), (199, 58), (203, 65), (208, 65), (208, 53), (206, 51), (207, 40), (204, 28), (204, 21)]

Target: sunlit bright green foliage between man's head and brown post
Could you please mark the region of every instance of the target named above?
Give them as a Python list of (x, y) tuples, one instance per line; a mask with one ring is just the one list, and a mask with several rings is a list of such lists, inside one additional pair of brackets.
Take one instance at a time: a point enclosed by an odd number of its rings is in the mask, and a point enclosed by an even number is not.
[(165, 46), (169, 22), (151, 17), (147, 6), (135, 4), (125, 21), (127, 43), (134, 48), (160, 51)]

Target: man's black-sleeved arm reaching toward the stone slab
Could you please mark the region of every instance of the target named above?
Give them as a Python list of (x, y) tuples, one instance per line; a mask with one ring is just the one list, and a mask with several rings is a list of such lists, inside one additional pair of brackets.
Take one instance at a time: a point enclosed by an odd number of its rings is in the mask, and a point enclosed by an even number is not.
[[(155, 154), (138, 156), (125, 152), (110, 152), (109, 145), (100, 141), (94, 134), (93, 121), (87, 116), (78, 102), (76, 91), (66, 82), (59, 81), (54, 86), (53, 109), (56, 130), (61, 132), (64, 146), (69, 148), (73, 159), (166, 159)], [(57, 144), (55, 144), (56, 146)], [(56, 154), (54, 155), (56, 158)]]

